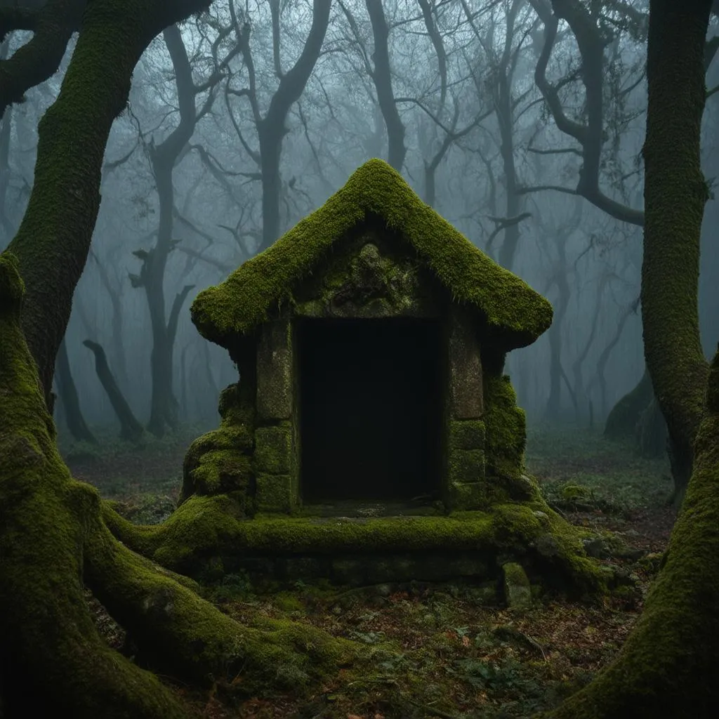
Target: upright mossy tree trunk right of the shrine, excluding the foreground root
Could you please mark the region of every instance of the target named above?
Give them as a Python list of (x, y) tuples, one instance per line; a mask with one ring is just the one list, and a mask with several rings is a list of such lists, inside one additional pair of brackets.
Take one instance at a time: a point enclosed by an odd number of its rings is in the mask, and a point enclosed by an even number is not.
[(641, 316), (646, 367), (667, 420), (677, 505), (692, 472), (692, 442), (702, 419), (708, 371), (697, 290), (708, 198), (700, 131), (711, 6), (710, 0), (650, 4)]

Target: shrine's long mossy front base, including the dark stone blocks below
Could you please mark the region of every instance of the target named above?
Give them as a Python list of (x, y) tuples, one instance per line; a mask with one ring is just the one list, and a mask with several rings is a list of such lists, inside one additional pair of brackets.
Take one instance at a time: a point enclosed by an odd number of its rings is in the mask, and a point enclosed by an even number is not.
[(479, 580), (521, 562), (533, 581), (572, 595), (603, 590), (582, 534), (544, 502), (496, 505), (449, 517), (243, 519), (232, 495), (193, 496), (165, 523), (135, 526), (106, 505), (124, 544), (168, 569), (202, 579), (247, 569), (286, 578), (357, 584), (390, 580)]

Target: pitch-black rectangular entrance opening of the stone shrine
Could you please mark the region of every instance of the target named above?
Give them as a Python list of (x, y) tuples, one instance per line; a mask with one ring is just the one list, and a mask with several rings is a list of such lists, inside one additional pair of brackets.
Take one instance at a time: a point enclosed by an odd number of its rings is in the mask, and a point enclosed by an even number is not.
[(439, 496), (439, 322), (323, 319), (298, 329), (303, 501)]

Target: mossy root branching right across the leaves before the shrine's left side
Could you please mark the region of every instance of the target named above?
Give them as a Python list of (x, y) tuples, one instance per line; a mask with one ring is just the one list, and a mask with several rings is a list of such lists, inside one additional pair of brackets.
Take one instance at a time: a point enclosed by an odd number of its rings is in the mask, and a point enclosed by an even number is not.
[(314, 682), (354, 658), (352, 642), (312, 627), (242, 626), (162, 571), (99, 523), (86, 551), (88, 585), (157, 669), (194, 682), (242, 670), (244, 687), (296, 688), (298, 678)]

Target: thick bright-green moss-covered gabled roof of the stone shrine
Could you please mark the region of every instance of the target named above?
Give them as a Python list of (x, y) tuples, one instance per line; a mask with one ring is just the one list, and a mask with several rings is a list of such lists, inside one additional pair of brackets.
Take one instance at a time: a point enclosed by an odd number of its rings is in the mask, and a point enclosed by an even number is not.
[(370, 160), (272, 247), (199, 293), (191, 307), (197, 329), (227, 347), (233, 336), (265, 321), (270, 308), (311, 274), (331, 244), (368, 214), (380, 216), (406, 239), (454, 301), (476, 308), (487, 324), (512, 335), (507, 347), (530, 344), (551, 324), (551, 305), (544, 297), (423, 203), (386, 162)]

